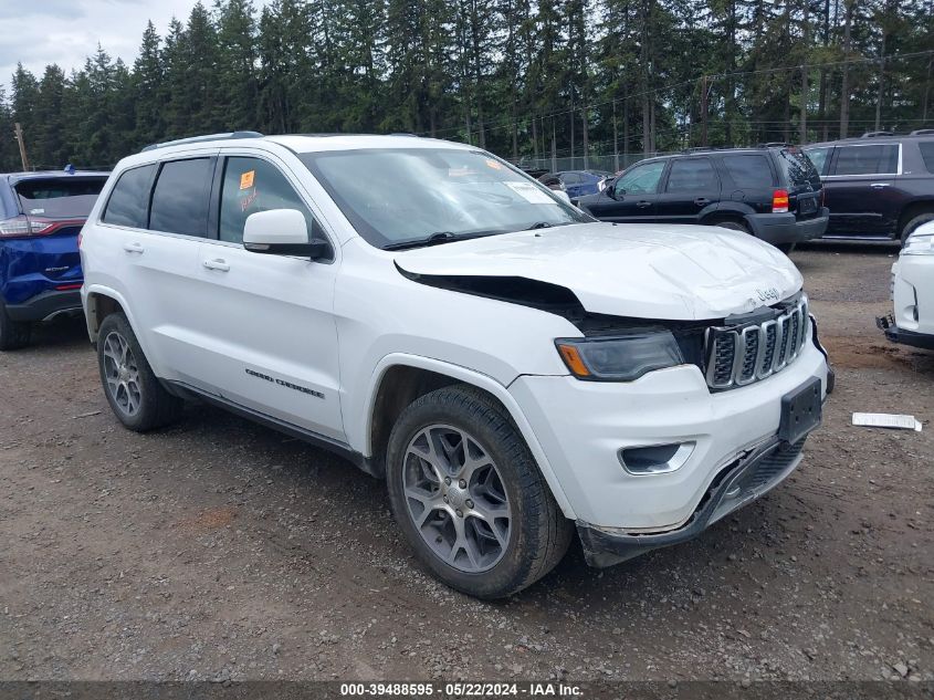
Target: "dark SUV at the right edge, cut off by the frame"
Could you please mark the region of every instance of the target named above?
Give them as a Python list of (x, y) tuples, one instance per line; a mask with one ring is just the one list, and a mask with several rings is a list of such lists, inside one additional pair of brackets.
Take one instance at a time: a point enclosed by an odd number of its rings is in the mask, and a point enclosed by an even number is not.
[(805, 146), (823, 180), (825, 238), (901, 240), (934, 220), (934, 129)]

